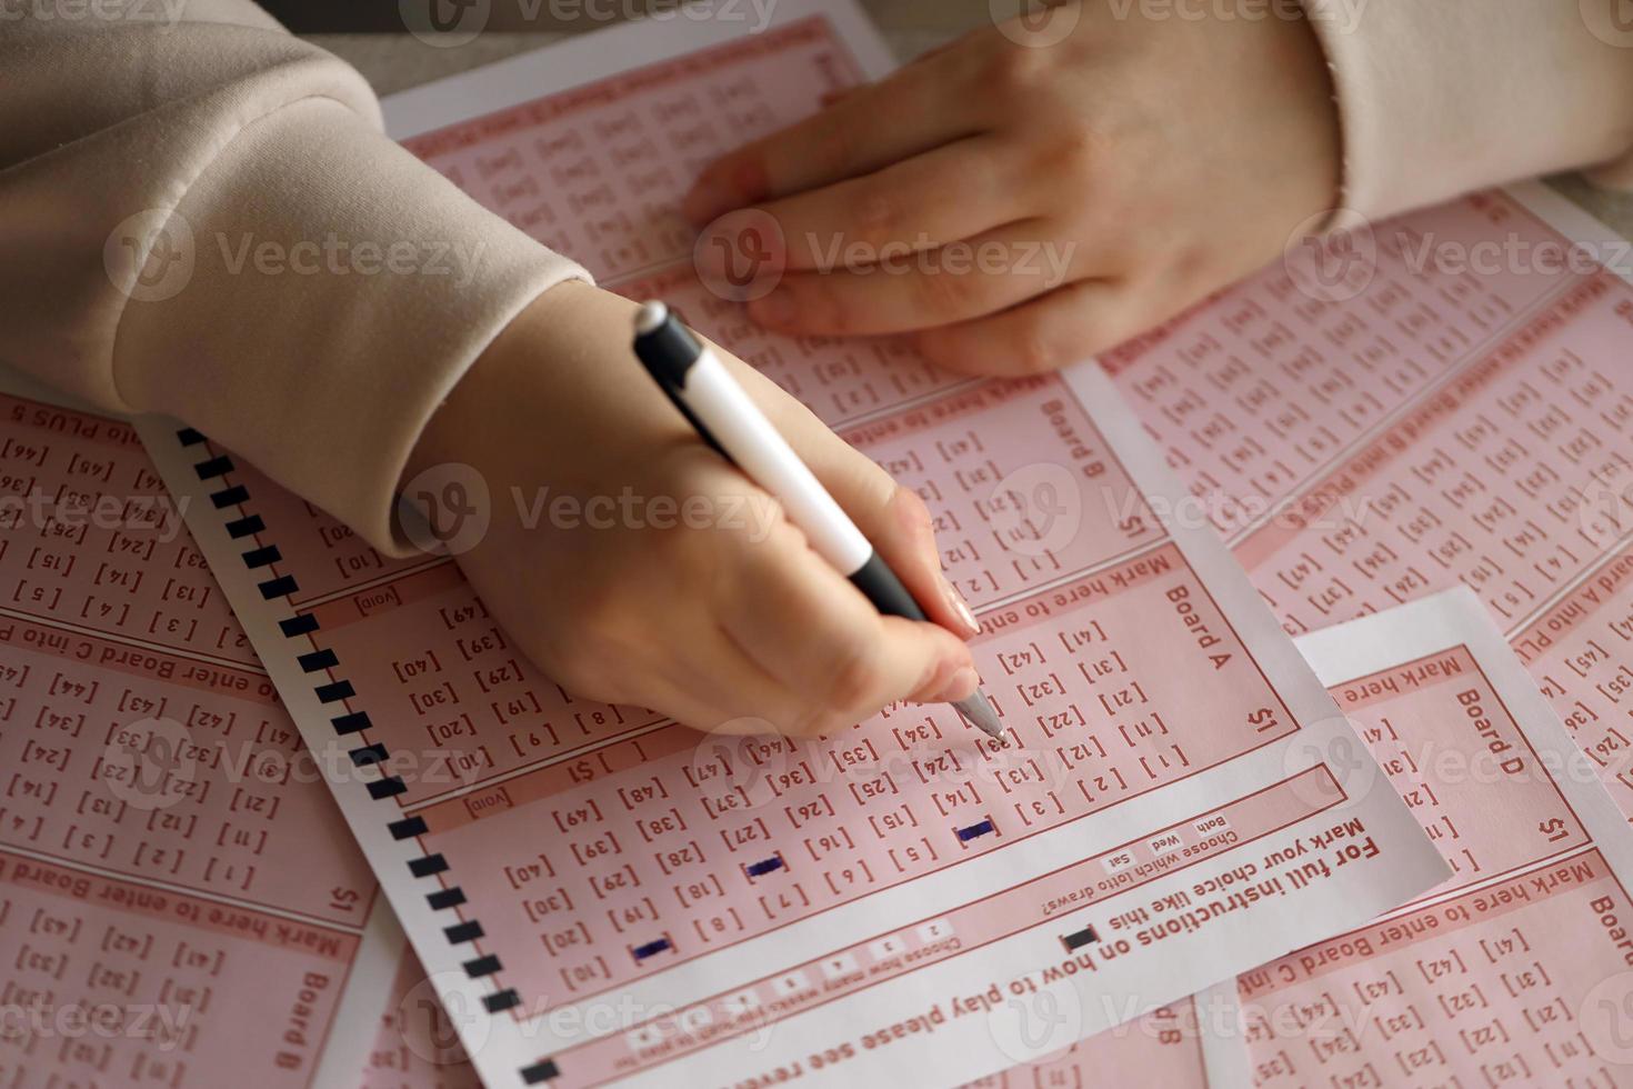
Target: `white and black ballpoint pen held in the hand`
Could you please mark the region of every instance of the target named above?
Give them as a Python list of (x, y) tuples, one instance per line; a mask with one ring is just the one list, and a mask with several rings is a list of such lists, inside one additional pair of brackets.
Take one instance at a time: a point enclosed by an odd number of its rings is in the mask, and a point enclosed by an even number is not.
[[(648, 302), (635, 315), (635, 356), (702, 439), (769, 491), (816, 553), (849, 578), (875, 609), (908, 620), (929, 619), (720, 358), (661, 302)], [(1008, 745), (998, 712), (980, 691), (954, 707), (977, 730)]]

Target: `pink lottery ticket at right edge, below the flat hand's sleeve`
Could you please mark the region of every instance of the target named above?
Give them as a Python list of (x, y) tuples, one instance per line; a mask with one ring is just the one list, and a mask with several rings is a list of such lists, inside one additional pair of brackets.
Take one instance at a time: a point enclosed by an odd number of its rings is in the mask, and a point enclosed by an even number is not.
[(1287, 630), (1470, 586), (1623, 813), (1630, 253), (1542, 186), (1473, 196), (1104, 359)]

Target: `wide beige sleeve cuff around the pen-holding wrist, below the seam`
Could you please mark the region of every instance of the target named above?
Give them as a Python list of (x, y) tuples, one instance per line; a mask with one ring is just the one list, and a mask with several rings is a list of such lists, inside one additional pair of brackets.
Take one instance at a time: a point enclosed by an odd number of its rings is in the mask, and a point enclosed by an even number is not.
[(248, 124), (163, 233), (193, 268), (126, 305), (121, 398), (229, 441), (398, 555), (395, 487), (431, 413), (523, 307), (588, 279), (327, 98)]

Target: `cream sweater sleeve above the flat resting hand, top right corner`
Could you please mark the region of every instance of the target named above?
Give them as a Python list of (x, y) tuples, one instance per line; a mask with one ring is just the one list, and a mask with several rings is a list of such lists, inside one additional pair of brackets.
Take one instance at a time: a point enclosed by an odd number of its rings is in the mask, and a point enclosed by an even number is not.
[(1633, 186), (1626, 0), (1303, 0), (1347, 209), (1383, 217), (1569, 168)]

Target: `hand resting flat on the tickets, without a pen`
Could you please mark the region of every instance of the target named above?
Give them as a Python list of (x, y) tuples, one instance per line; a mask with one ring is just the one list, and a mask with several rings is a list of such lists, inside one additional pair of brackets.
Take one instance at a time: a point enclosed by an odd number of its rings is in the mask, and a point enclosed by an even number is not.
[[(1048, 371), (1272, 260), (1336, 199), (1337, 111), (1297, 5), (1166, 18), (1078, 3), (1014, 20), (738, 149), (699, 227), (776, 220), (784, 333), (918, 333), (955, 371)], [(728, 235), (764, 219), (725, 216)], [(702, 268), (707, 274), (720, 271)]]

